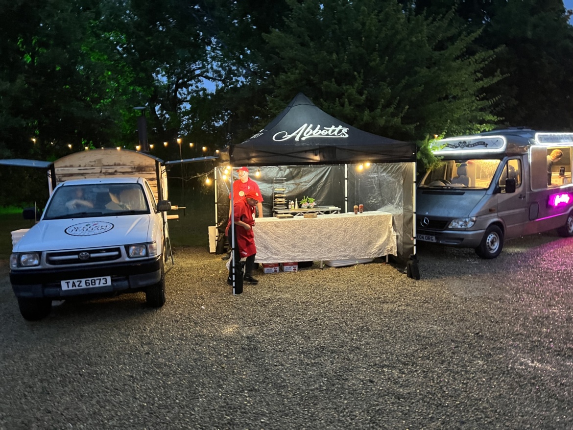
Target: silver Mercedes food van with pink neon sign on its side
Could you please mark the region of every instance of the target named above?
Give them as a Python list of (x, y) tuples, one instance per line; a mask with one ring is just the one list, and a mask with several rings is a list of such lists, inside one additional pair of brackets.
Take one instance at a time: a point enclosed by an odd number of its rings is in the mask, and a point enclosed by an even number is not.
[(506, 239), (551, 229), (573, 236), (573, 133), (512, 128), (431, 149), (442, 160), (417, 187), (418, 241), (492, 259)]

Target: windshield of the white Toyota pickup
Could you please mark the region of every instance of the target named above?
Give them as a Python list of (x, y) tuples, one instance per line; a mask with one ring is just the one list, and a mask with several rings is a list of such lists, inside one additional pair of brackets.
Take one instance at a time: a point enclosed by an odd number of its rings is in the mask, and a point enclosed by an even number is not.
[(50, 199), (45, 220), (150, 213), (137, 183), (85, 184), (58, 187)]

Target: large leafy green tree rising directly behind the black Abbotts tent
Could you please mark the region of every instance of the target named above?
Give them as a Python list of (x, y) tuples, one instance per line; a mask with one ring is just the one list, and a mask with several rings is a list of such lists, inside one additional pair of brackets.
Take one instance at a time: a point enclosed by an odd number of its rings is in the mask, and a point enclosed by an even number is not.
[(452, 13), (426, 19), (374, 0), (289, 5), (284, 28), (264, 36), (271, 116), (301, 91), (336, 118), (397, 139), (495, 122), (482, 94), (497, 77), (481, 73), (493, 52), (469, 55), (478, 33), (459, 32)]

